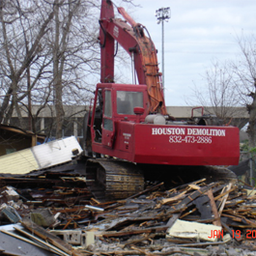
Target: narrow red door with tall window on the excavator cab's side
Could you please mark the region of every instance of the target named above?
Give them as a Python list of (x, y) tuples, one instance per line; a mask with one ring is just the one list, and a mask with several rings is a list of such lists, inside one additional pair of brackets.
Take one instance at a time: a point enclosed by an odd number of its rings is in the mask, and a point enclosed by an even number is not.
[(103, 122), (102, 122), (102, 144), (104, 146), (113, 147), (115, 126), (113, 122), (113, 102), (112, 90), (105, 89), (103, 91)]

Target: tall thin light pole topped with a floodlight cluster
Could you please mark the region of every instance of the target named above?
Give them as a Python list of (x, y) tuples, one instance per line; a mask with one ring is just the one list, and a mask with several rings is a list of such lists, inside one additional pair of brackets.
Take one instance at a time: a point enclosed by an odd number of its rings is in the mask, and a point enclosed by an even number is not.
[(162, 70), (162, 90), (164, 95), (164, 21), (168, 22), (171, 15), (169, 7), (156, 10), (157, 24), (161, 23), (161, 70)]

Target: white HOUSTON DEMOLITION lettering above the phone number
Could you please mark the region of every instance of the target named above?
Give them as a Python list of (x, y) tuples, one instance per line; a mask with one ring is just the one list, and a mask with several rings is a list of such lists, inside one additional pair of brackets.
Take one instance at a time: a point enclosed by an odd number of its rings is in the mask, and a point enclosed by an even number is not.
[(152, 128), (152, 135), (226, 136), (223, 128)]

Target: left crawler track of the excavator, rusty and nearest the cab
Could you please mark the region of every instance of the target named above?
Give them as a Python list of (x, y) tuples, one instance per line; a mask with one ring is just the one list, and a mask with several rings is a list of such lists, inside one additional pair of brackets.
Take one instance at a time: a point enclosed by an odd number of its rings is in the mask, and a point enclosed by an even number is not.
[(144, 176), (137, 166), (115, 159), (88, 159), (86, 180), (101, 202), (128, 198), (144, 188)]

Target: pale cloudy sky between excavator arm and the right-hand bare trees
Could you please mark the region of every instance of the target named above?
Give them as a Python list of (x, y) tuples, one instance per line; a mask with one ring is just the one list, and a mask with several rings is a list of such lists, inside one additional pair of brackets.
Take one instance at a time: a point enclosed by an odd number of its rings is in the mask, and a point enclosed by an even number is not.
[(141, 6), (130, 14), (147, 27), (158, 50), (161, 68), (161, 24), (156, 10), (170, 7), (164, 22), (164, 71), (166, 105), (186, 105), (194, 84), (214, 59), (224, 61), (239, 53), (236, 37), (255, 34), (255, 0), (134, 0)]

